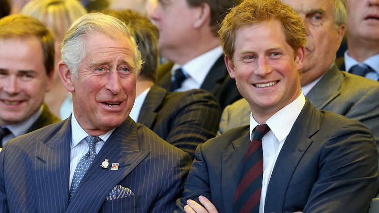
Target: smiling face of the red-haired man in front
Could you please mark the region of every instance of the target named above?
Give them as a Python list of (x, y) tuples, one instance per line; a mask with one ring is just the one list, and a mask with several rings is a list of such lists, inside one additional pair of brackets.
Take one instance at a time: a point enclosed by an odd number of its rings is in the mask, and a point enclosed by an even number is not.
[(295, 59), (281, 29), (278, 20), (241, 28), (236, 32), (233, 63), (225, 56), (229, 74), (256, 120), (257, 115), (271, 117), (300, 95), (304, 48)]

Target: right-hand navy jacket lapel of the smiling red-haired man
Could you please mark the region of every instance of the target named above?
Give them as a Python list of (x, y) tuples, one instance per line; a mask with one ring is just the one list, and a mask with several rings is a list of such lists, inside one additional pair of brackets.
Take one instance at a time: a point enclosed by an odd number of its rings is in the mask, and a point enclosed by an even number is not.
[(293, 172), (312, 143), (310, 137), (319, 129), (320, 113), (306, 100), (276, 160), (267, 188), (265, 213), (283, 211), (284, 197)]

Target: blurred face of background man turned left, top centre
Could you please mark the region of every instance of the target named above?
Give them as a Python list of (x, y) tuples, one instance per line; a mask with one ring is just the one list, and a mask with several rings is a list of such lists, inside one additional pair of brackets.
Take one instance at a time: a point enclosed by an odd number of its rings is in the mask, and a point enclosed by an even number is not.
[(157, 0), (150, 18), (159, 29), (162, 56), (170, 58), (172, 51), (177, 51), (193, 37), (195, 10), (196, 7), (189, 7), (186, 0)]

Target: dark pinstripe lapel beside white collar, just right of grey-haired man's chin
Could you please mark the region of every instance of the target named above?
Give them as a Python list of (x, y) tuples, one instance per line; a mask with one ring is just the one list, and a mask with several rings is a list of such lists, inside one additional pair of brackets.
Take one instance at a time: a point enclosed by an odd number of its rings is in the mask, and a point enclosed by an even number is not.
[(138, 116), (138, 123), (153, 129), (154, 121), (158, 114), (158, 109), (162, 106), (167, 90), (154, 85), (147, 93), (145, 101)]

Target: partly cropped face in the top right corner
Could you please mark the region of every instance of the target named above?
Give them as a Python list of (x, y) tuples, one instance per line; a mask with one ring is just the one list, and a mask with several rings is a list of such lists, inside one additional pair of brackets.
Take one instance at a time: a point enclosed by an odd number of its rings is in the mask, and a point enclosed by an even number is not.
[(379, 0), (346, 0), (347, 35), (379, 42)]

